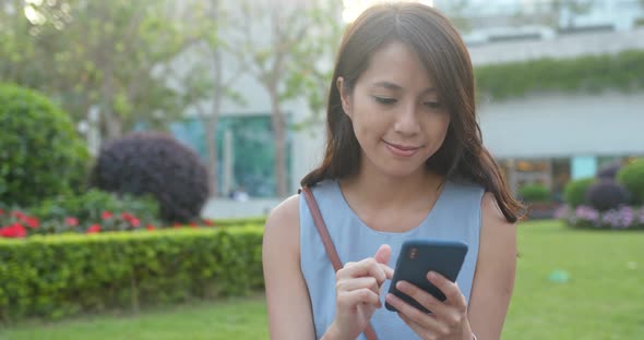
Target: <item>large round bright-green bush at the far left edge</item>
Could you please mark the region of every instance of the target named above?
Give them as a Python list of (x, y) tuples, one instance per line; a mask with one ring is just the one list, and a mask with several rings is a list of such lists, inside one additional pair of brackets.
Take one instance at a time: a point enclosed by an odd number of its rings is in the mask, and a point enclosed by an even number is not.
[(80, 186), (88, 150), (47, 97), (0, 84), (0, 202), (28, 206)]

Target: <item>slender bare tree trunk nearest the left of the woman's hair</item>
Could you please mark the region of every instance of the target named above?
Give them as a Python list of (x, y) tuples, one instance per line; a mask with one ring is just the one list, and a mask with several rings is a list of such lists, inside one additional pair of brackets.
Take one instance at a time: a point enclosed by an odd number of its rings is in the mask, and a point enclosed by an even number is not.
[(275, 179), (277, 184), (277, 195), (284, 197), (287, 195), (286, 178), (286, 122), (282, 114), (277, 86), (269, 89), (271, 95), (271, 124), (273, 126), (273, 138), (275, 142)]

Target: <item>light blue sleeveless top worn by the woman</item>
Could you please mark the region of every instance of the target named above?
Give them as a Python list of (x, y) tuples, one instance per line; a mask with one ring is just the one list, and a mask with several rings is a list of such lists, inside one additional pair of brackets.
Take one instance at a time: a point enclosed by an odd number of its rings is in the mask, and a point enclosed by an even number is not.
[[(394, 268), (401, 246), (410, 239), (458, 240), (469, 250), (456, 282), (469, 303), (472, 281), (478, 257), (480, 231), (481, 186), (446, 181), (433, 208), (420, 226), (406, 232), (381, 232), (367, 227), (351, 210), (337, 181), (322, 181), (312, 189), (329, 234), (343, 264), (372, 257), (381, 244), (389, 244), (392, 256), (389, 266)], [(315, 339), (320, 339), (335, 317), (335, 271), (322, 239), (313, 223), (309, 207), (300, 197), (300, 266), (309, 289)], [(395, 268), (394, 268), (395, 269)], [(391, 280), (381, 288), (382, 308), (371, 317), (379, 339), (419, 339), (396, 313), (384, 308), (384, 295)], [(358, 338), (366, 340), (365, 335)]]

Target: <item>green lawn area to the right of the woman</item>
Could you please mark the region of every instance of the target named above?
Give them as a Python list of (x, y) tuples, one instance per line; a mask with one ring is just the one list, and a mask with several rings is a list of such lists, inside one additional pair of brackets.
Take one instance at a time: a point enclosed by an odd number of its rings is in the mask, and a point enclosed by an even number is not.
[[(503, 339), (644, 339), (644, 232), (518, 228)], [(550, 282), (553, 270), (569, 281)]]

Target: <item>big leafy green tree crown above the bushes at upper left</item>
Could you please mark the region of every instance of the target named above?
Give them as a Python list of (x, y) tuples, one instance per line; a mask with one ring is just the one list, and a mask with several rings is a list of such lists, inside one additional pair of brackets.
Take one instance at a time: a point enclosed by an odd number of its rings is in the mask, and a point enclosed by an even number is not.
[[(28, 40), (34, 49), (21, 58), (19, 70), (38, 68), (7, 78), (47, 93), (76, 121), (85, 119), (91, 107), (99, 107), (99, 127), (108, 138), (140, 122), (164, 125), (181, 112), (176, 92), (162, 81), (165, 64), (184, 44), (171, 4), (14, 0), (17, 10), (10, 15), (20, 28), (14, 40)], [(4, 46), (22, 54), (19, 45)]]

